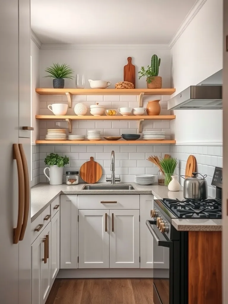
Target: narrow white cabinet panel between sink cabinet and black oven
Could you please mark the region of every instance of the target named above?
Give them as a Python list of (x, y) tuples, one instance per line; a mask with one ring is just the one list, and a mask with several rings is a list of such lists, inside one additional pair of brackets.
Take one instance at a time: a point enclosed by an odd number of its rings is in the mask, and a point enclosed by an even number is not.
[(146, 226), (153, 208), (154, 196), (140, 195), (140, 268), (153, 268), (153, 237)]

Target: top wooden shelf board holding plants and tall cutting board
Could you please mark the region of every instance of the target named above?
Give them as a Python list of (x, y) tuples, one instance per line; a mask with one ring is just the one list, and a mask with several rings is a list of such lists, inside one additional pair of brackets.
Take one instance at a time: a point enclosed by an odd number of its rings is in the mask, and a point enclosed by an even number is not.
[(175, 89), (53, 89), (37, 88), (36, 93), (40, 95), (172, 95)]

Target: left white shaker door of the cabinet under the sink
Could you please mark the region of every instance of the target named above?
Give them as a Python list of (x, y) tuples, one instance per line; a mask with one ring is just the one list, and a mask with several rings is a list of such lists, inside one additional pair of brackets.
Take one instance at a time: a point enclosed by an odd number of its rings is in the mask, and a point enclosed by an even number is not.
[(78, 214), (78, 268), (109, 268), (109, 210)]

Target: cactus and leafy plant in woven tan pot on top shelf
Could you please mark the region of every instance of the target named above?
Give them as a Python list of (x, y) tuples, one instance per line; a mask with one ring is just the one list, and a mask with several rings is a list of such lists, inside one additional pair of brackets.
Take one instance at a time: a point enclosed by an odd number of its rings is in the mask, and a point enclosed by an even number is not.
[(138, 73), (141, 74), (139, 79), (143, 76), (147, 77), (147, 88), (148, 89), (161, 89), (162, 86), (162, 78), (158, 76), (159, 66), (161, 64), (161, 58), (158, 59), (157, 55), (153, 55), (151, 57), (151, 65), (147, 66), (147, 70), (145, 67), (141, 67), (141, 71)]

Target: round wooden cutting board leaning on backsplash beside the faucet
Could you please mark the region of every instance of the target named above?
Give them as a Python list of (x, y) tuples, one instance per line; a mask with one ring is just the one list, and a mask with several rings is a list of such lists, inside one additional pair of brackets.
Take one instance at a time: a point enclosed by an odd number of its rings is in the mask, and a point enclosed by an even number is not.
[(93, 157), (90, 157), (90, 161), (85, 162), (80, 168), (80, 176), (83, 181), (88, 184), (94, 184), (99, 181), (102, 176), (102, 167)]

